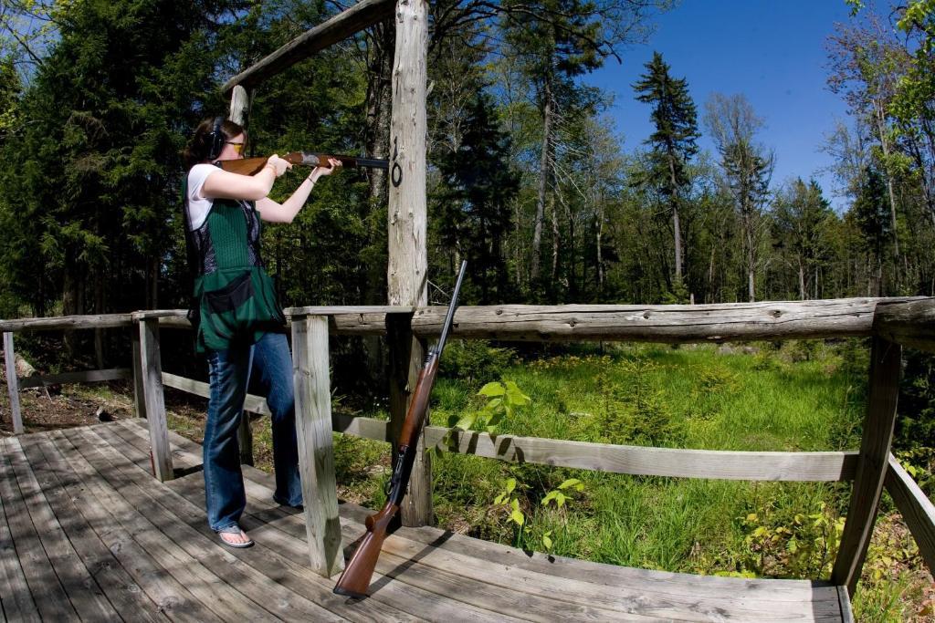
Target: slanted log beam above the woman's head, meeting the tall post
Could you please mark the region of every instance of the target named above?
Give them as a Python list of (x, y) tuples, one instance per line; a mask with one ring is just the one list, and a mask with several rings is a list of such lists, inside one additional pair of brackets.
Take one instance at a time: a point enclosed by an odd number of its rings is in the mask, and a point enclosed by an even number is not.
[(386, 20), (393, 15), (393, 0), (363, 0), (328, 21), (324, 21), (307, 33), (269, 54), (259, 63), (240, 72), (224, 82), (221, 91), (230, 92), (235, 86), (255, 87), (296, 63), (304, 61), (315, 52), (324, 50), (338, 41), (359, 33), (368, 26)]

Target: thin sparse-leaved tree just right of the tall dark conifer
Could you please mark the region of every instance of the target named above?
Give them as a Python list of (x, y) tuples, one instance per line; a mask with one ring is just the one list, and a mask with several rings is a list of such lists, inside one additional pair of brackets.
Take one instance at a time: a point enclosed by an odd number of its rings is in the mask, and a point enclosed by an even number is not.
[(721, 154), (726, 185), (741, 219), (747, 295), (753, 302), (762, 243), (762, 208), (769, 199), (773, 155), (755, 143), (755, 133), (763, 127), (763, 120), (756, 117), (743, 95), (714, 93), (706, 107), (705, 123)]

